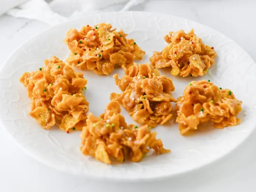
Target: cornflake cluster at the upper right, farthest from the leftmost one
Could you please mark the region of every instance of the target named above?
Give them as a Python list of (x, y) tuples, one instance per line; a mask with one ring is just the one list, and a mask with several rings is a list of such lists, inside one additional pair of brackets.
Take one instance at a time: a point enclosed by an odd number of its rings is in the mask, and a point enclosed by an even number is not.
[(160, 52), (154, 51), (149, 59), (157, 69), (170, 67), (172, 75), (197, 77), (214, 64), (216, 52), (204, 45), (193, 29), (187, 34), (184, 30), (171, 31), (165, 41), (169, 44)]

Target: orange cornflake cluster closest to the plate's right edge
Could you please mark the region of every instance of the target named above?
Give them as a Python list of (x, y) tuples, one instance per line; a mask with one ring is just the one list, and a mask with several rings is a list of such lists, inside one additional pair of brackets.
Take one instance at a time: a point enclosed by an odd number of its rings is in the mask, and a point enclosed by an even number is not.
[(175, 105), (180, 134), (196, 130), (200, 123), (209, 121), (216, 128), (235, 126), (240, 122), (236, 116), (242, 110), (241, 104), (229, 89), (218, 88), (209, 80), (192, 81)]

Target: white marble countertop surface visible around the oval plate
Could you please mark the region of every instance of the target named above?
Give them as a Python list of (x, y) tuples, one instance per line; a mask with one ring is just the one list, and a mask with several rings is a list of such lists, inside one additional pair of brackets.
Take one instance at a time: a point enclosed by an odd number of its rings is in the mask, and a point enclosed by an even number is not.
[[(148, 0), (135, 11), (172, 14), (197, 21), (236, 41), (256, 60), (254, 0)], [(40, 21), (0, 17), (0, 66), (30, 37), (50, 27)], [(253, 98), (252, 98), (253, 99)], [(25, 154), (0, 128), (0, 191), (255, 192), (256, 133), (223, 159), (200, 170), (155, 183), (99, 183), (59, 172)], [(160, 190), (161, 189), (161, 190)]]

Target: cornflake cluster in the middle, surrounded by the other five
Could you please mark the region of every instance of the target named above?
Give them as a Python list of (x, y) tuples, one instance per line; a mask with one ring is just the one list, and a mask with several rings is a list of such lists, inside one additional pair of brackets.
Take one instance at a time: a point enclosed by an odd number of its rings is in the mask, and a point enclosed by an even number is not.
[(159, 71), (149, 64), (134, 63), (124, 68), (125, 75), (116, 84), (122, 93), (111, 93), (110, 99), (118, 101), (137, 123), (148, 124), (150, 128), (165, 124), (172, 117), (172, 79), (159, 76)]

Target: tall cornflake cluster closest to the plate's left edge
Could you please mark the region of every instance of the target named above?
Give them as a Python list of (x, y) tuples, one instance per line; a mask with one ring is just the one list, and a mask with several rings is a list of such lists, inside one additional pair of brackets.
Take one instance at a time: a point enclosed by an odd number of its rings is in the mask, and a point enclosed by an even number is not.
[(88, 105), (82, 90), (87, 80), (83, 73), (74, 70), (53, 57), (45, 60), (45, 67), (35, 72), (25, 72), (20, 82), (27, 87), (31, 99), (29, 113), (44, 128), (58, 124), (60, 129), (82, 130)]

